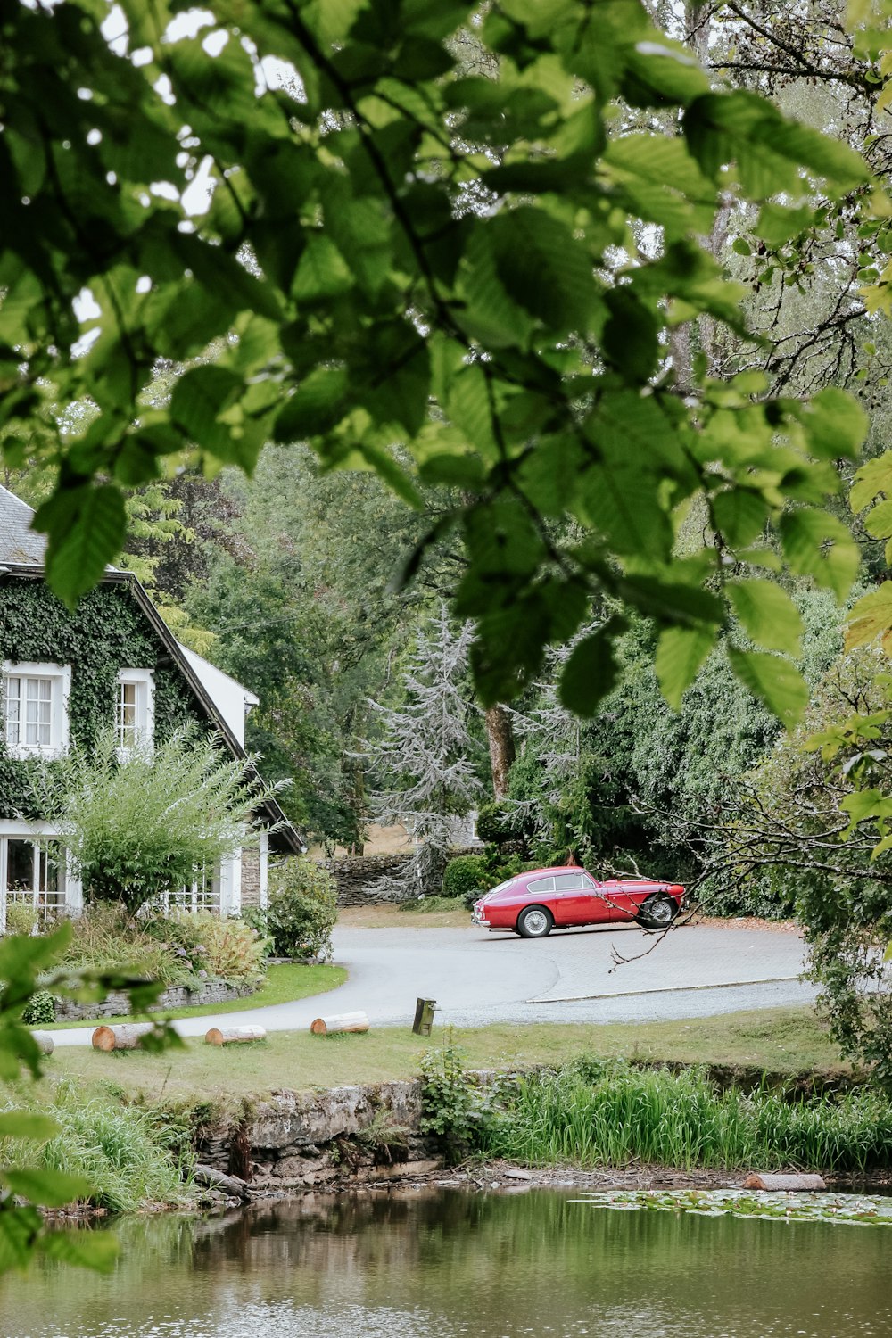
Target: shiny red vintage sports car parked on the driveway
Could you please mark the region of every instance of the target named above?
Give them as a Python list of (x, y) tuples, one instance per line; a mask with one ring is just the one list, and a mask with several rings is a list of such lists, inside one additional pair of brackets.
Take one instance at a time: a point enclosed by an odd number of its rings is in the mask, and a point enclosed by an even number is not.
[(472, 921), (485, 929), (510, 929), (544, 938), (552, 929), (637, 921), (645, 929), (671, 925), (685, 888), (653, 878), (599, 882), (584, 868), (556, 866), (518, 874), (473, 903)]

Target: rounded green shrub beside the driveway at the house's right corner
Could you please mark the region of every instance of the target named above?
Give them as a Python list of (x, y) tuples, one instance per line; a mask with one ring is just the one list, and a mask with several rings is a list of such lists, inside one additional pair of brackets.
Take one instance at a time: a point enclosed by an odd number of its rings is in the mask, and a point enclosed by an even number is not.
[(337, 921), (334, 879), (302, 856), (271, 868), (266, 918), (277, 957), (330, 957)]

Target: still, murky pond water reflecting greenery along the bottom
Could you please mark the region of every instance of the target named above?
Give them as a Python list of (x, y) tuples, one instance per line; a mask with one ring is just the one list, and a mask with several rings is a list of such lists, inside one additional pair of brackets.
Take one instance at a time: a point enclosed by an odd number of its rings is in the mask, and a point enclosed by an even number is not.
[(892, 1228), (618, 1211), (571, 1189), (308, 1196), (115, 1226), (111, 1276), (0, 1283), (4, 1338), (892, 1333)]

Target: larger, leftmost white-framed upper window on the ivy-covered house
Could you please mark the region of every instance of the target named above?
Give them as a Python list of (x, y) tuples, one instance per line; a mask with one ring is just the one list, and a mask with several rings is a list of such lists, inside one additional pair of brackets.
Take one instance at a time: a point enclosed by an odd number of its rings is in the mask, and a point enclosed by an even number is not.
[(3, 666), (3, 737), (13, 757), (53, 757), (68, 747), (71, 666)]

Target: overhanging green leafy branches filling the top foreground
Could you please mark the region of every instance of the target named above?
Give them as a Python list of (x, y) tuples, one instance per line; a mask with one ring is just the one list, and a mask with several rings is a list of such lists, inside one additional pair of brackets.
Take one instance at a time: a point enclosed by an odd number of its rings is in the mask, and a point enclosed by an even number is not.
[[(793, 721), (782, 598), (745, 575), (729, 603), (722, 573), (766, 565), (782, 515), (789, 569), (845, 593), (857, 553), (821, 507), (863, 415), (836, 389), (768, 399), (752, 372), (701, 368), (682, 396), (666, 339), (702, 316), (741, 329), (742, 290), (698, 240), (719, 202), (869, 199), (859, 155), (714, 88), (639, 0), (187, 8), (0, 0), (0, 429), (12, 464), (41, 415), (55, 436), (53, 589), (99, 578), (123, 490), (183, 450), (250, 472), (265, 442), (304, 440), (409, 506), (416, 478), (459, 490), (432, 538), (463, 531), (453, 611), (479, 624), (484, 702), (607, 594), (662, 632), (670, 701), (740, 619), (736, 672)], [(657, 112), (674, 134), (641, 128)], [(147, 401), (159, 363), (170, 393)], [(87, 427), (62, 435), (48, 384), (95, 407)], [(717, 542), (681, 558), (698, 495)], [(579, 644), (574, 709), (608, 690), (623, 626)]]

